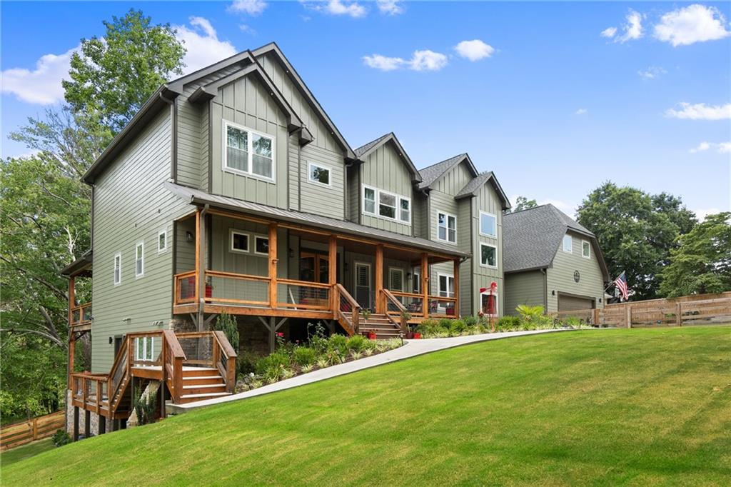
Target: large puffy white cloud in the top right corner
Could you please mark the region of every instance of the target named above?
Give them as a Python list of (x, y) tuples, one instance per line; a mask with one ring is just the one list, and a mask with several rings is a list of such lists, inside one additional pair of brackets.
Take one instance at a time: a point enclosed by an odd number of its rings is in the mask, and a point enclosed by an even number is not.
[(716, 7), (694, 4), (667, 12), (655, 26), (654, 36), (673, 47), (731, 36), (726, 19)]

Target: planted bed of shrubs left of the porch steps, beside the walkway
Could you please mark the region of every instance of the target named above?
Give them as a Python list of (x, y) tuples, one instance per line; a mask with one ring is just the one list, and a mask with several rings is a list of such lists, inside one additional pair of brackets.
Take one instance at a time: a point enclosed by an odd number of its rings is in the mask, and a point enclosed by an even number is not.
[(314, 333), (306, 344), (287, 343), (284, 335), (277, 333), (275, 352), (262, 358), (240, 353), (235, 392), (244, 392), (338, 363), (370, 357), (401, 347), (402, 344), (401, 339), (369, 340), (362, 335), (347, 337), (333, 334), (327, 337), (321, 324), (312, 326)]

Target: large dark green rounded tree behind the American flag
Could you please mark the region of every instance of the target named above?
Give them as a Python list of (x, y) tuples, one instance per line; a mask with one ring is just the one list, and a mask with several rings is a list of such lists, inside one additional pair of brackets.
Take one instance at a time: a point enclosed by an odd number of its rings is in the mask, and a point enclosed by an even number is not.
[(589, 193), (577, 214), (578, 222), (596, 234), (610, 276), (626, 272), (635, 300), (659, 297), (659, 273), (670, 249), (696, 224), (680, 198), (610, 181)]

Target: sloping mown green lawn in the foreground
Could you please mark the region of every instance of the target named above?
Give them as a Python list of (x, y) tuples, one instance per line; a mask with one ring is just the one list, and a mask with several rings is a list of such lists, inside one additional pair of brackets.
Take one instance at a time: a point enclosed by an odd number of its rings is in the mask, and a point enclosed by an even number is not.
[(3, 466), (2, 483), (731, 485), (731, 328), (474, 344)]

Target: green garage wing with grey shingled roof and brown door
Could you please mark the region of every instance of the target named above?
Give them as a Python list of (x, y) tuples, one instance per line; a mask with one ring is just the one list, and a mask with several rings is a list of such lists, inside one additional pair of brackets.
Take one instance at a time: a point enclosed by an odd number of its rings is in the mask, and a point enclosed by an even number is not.
[(506, 314), (520, 304), (546, 312), (604, 307), (607, 265), (596, 235), (553, 205), (503, 217)]

